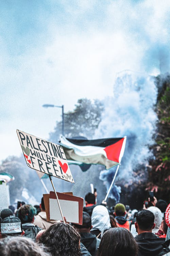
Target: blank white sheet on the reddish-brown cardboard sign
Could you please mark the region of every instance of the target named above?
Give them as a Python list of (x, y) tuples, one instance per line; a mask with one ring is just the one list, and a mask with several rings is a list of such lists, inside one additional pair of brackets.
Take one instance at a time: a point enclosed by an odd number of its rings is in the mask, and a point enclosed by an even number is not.
[[(67, 222), (79, 223), (79, 202), (59, 199), (63, 216)], [(57, 199), (49, 199), (50, 219), (62, 220)]]

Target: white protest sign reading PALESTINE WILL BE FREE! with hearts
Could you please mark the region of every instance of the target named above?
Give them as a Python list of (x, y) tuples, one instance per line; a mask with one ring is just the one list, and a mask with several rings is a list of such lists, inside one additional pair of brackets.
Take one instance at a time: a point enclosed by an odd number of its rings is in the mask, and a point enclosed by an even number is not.
[(74, 183), (62, 146), (20, 130), (17, 135), (30, 168)]

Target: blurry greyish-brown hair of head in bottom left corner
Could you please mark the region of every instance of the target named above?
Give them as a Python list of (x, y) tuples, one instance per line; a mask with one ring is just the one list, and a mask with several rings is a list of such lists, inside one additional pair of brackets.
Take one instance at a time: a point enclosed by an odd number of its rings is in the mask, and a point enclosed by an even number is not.
[(0, 242), (1, 256), (48, 256), (43, 246), (26, 237), (7, 237)]

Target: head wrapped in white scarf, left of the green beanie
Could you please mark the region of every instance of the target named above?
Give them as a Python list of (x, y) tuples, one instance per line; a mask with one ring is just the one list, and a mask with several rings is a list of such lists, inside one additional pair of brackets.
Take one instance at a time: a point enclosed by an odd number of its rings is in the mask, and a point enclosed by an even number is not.
[(101, 232), (101, 236), (103, 232), (111, 227), (110, 217), (108, 210), (103, 205), (97, 205), (91, 215), (91, 225), (93, 228), (97, 228)]

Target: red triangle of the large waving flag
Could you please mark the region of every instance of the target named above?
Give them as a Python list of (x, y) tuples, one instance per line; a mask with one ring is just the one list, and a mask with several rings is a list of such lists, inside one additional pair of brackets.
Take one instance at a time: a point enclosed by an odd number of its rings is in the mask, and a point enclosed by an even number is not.
[(121, 148), (123, 145), (123, 141), (124, 141), (124, 138), (104, 148), (104, 151), (106, 152), (107, 158), (109, 160), (119, 162), (119, 156), (120, 156)]

